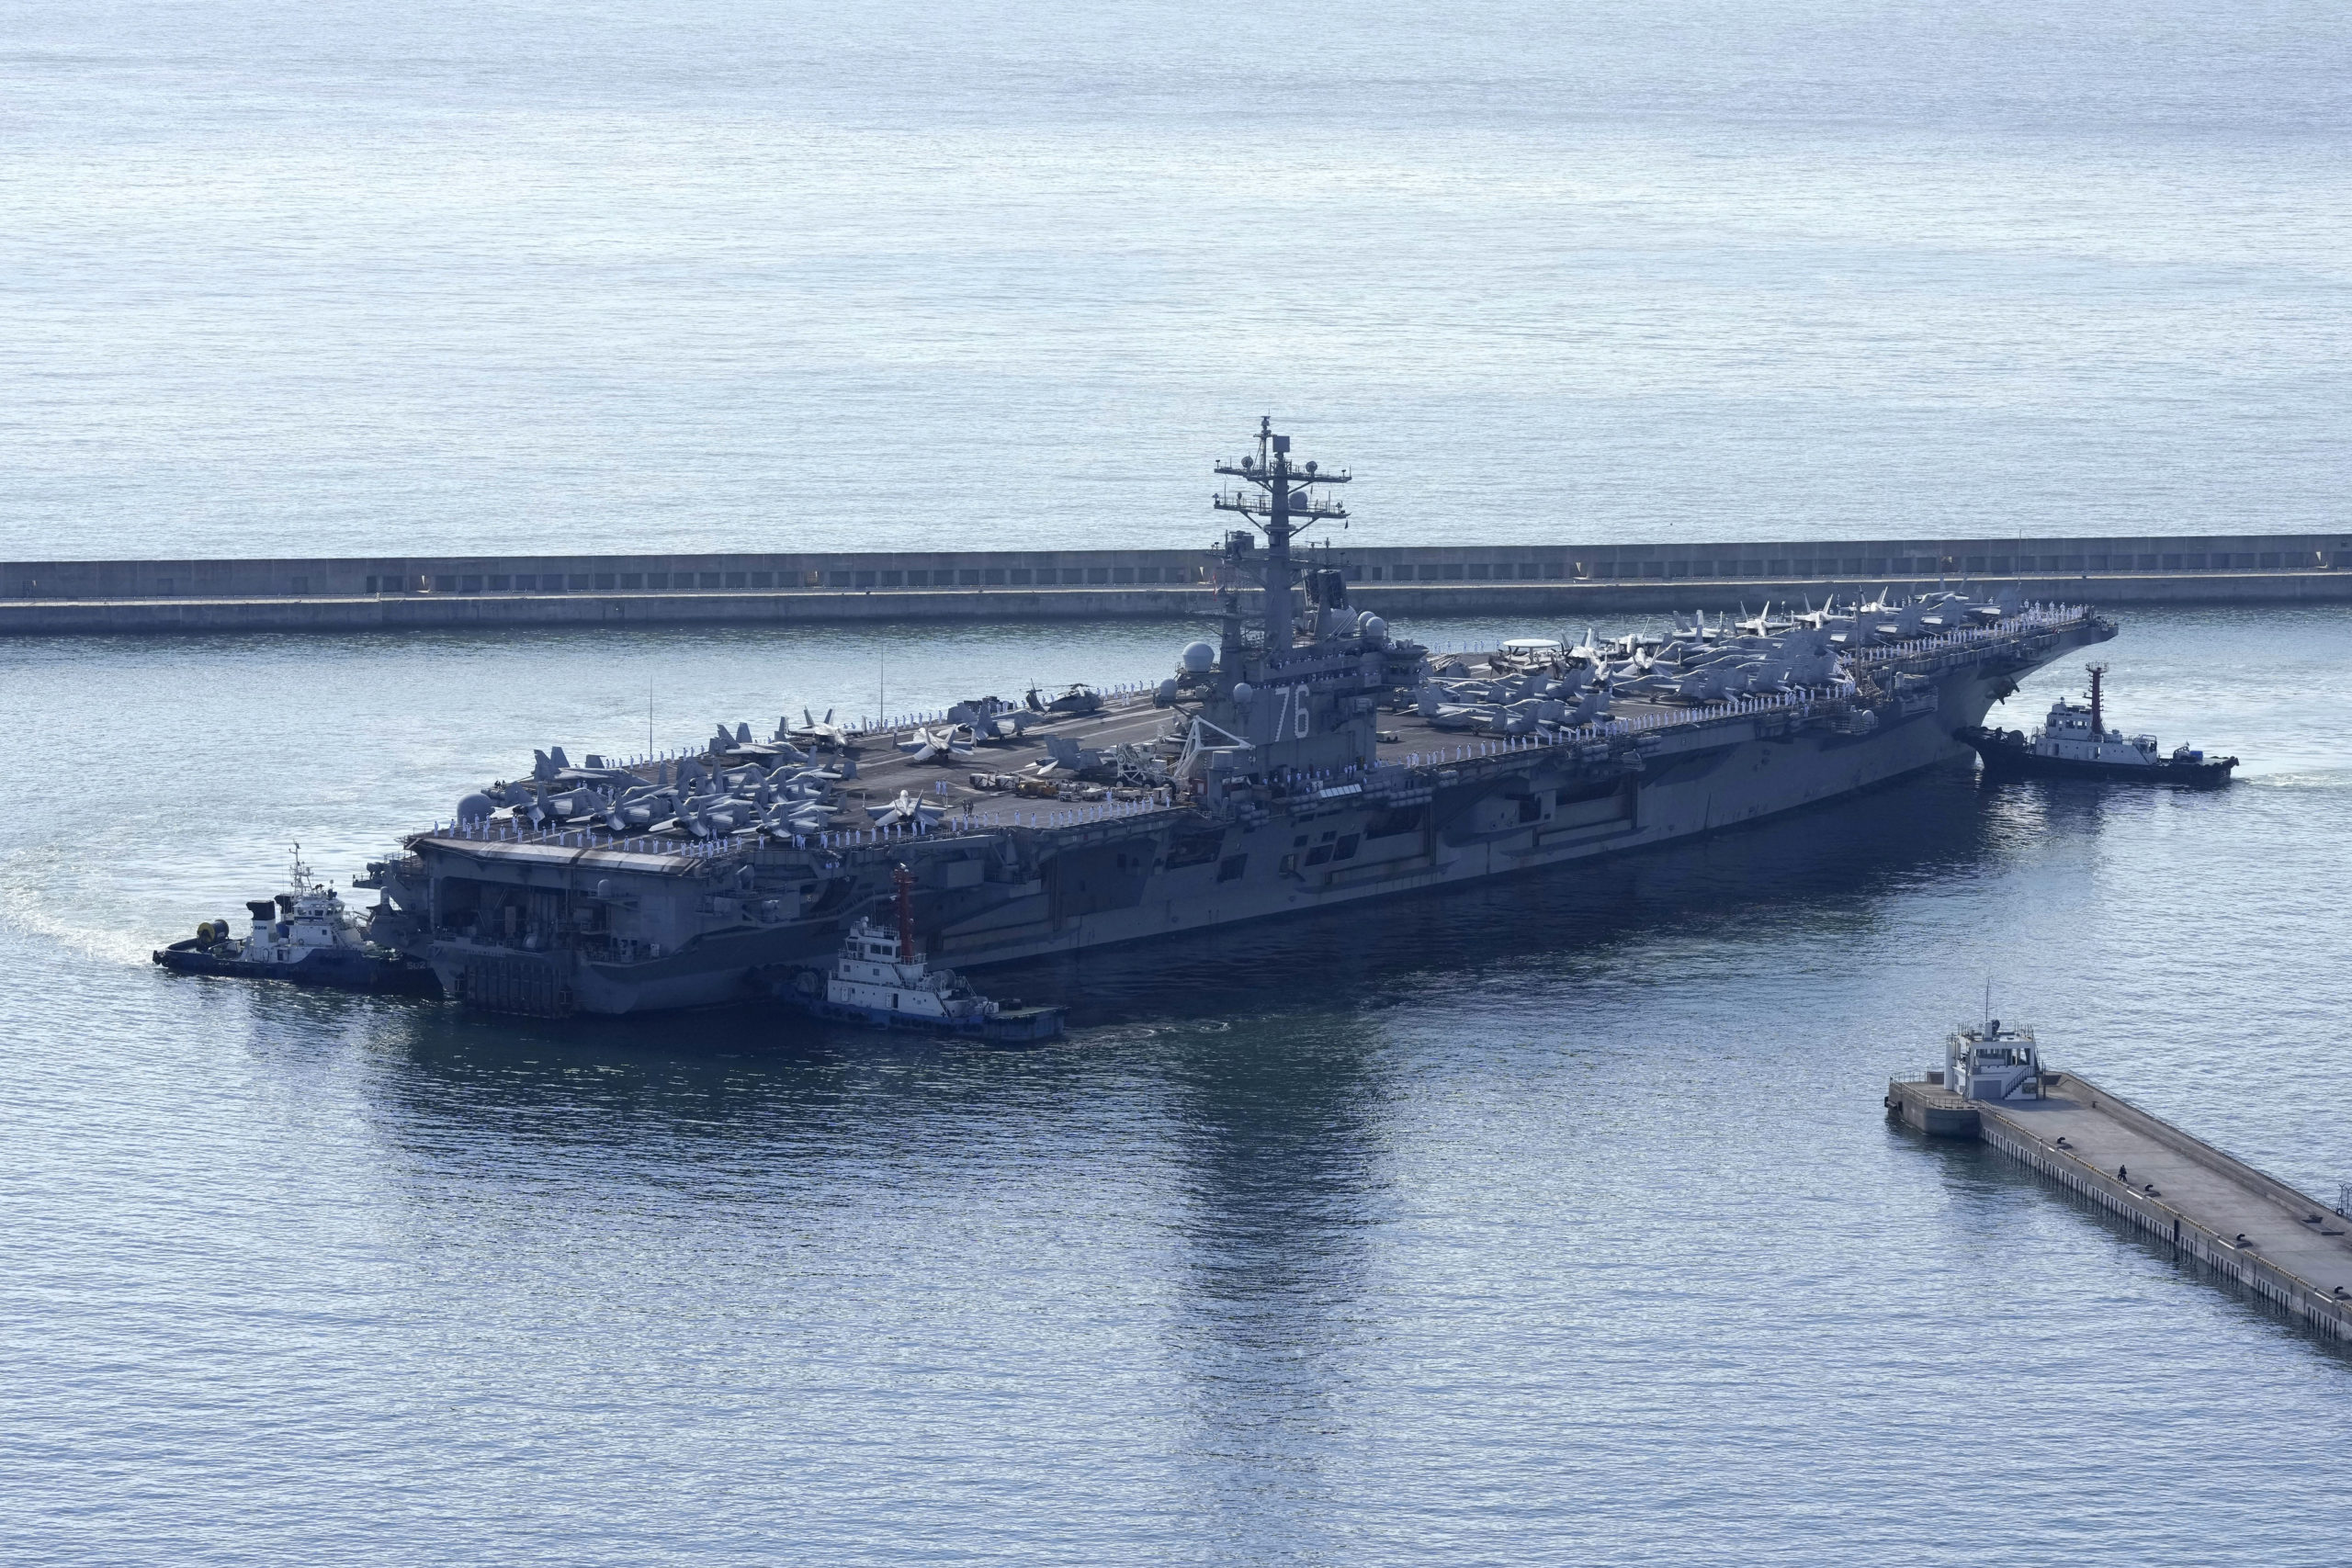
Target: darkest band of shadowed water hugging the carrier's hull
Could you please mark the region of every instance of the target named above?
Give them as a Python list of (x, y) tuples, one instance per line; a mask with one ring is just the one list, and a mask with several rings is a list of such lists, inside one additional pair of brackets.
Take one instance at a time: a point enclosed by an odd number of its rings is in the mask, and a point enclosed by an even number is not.
[[(1987, 811), (1969, 773), (1938, 771), (1837, 811), (1592, 865), (993, 969), (988, 990), (1073, 1009), (1073, 1039), (1030, 1051), (814, 1025), (764, 1006), (539, 1023), (303, 992), (278, 992), (254, 1027), (365, 1018), (390, 1126), (456, 1119), (517, 1140), (616, 1147), (835, 1124), (889, 1138), (927, 1117), (1011, 1112), (1098, 1081), (1105, 1053), (1162, 1063), (1192, 1095), (1188, 1121), (1216, 1124), (1221, 1107), (1256, 1117), (1319, 1091), (1315, 1074), (1265, 1077), (1277, 1072), (1265, 1063), (1305, 1060), (1324, 1020), (1345, 1039), (1381, 1009), (1477, 990), (1531, 961), (1590, 973), (1613, 947), (1661, 933), (1755, 919), (1867, 926), (1879, 900), (1919, 882), (1992, 875), (2053, 830), (2096, 832), (2100, 809), (2096, 797), (2004, 795)], [(1235, 1063), (1256, 1074), (1235, 1093), (1265, 1091), (1221, 1098), (1218, 1074), (1240, 1072)], [(1331, 1070), (1317, 1056), (1317, 1072)], [(1209, 1077), (1192, 1081), (1197, 1072)], [(1240, 1133), (1237, 1147), (1249, 1143)]]

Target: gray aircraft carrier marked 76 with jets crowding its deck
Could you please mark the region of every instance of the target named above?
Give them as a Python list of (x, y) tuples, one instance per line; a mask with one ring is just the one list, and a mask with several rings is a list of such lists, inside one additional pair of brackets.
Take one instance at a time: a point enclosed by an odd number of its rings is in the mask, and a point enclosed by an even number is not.
[(720, 726), (468, 795), (369, 865), (369, 938), (473, 1006), (769, 994), (915, 877), (931, 961), (981, 966), (1625, 853), (1962, 759), (2086, 607), (1938, 592), (1437, 658), (1348, 604), (1303, 529), (1350, 475), (1261, 421), (1216, 473), (1218, 639), (1148, 689), (971, 698), (866, 731)]

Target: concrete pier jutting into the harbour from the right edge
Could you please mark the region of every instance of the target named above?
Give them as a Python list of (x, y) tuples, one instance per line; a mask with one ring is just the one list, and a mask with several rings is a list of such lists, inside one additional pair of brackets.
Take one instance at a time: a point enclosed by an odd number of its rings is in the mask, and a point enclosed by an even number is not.
[(1971, 1098), (1926, 1072), (1886, 1086), (1886, 1114), (1980, 1138), (2157, 1241), (2239, 1281), (2321, 1338), (2352, 1345), (2352, 1220), (2152, 1117), (2077, 1072)]

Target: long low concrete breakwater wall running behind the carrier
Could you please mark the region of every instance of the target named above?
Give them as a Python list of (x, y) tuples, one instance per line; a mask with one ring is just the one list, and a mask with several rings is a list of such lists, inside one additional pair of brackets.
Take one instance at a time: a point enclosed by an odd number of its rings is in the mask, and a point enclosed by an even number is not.
[[(2105, 604), (2352, 599), (2352, 534), (1334, 548), (1327, 564), (1392, 616), (1731, 609), (1936, 585)], [(1204, 550), (7, 562), (0, 635), (1091, 621), (1204, 614), (1214, 595)]]

